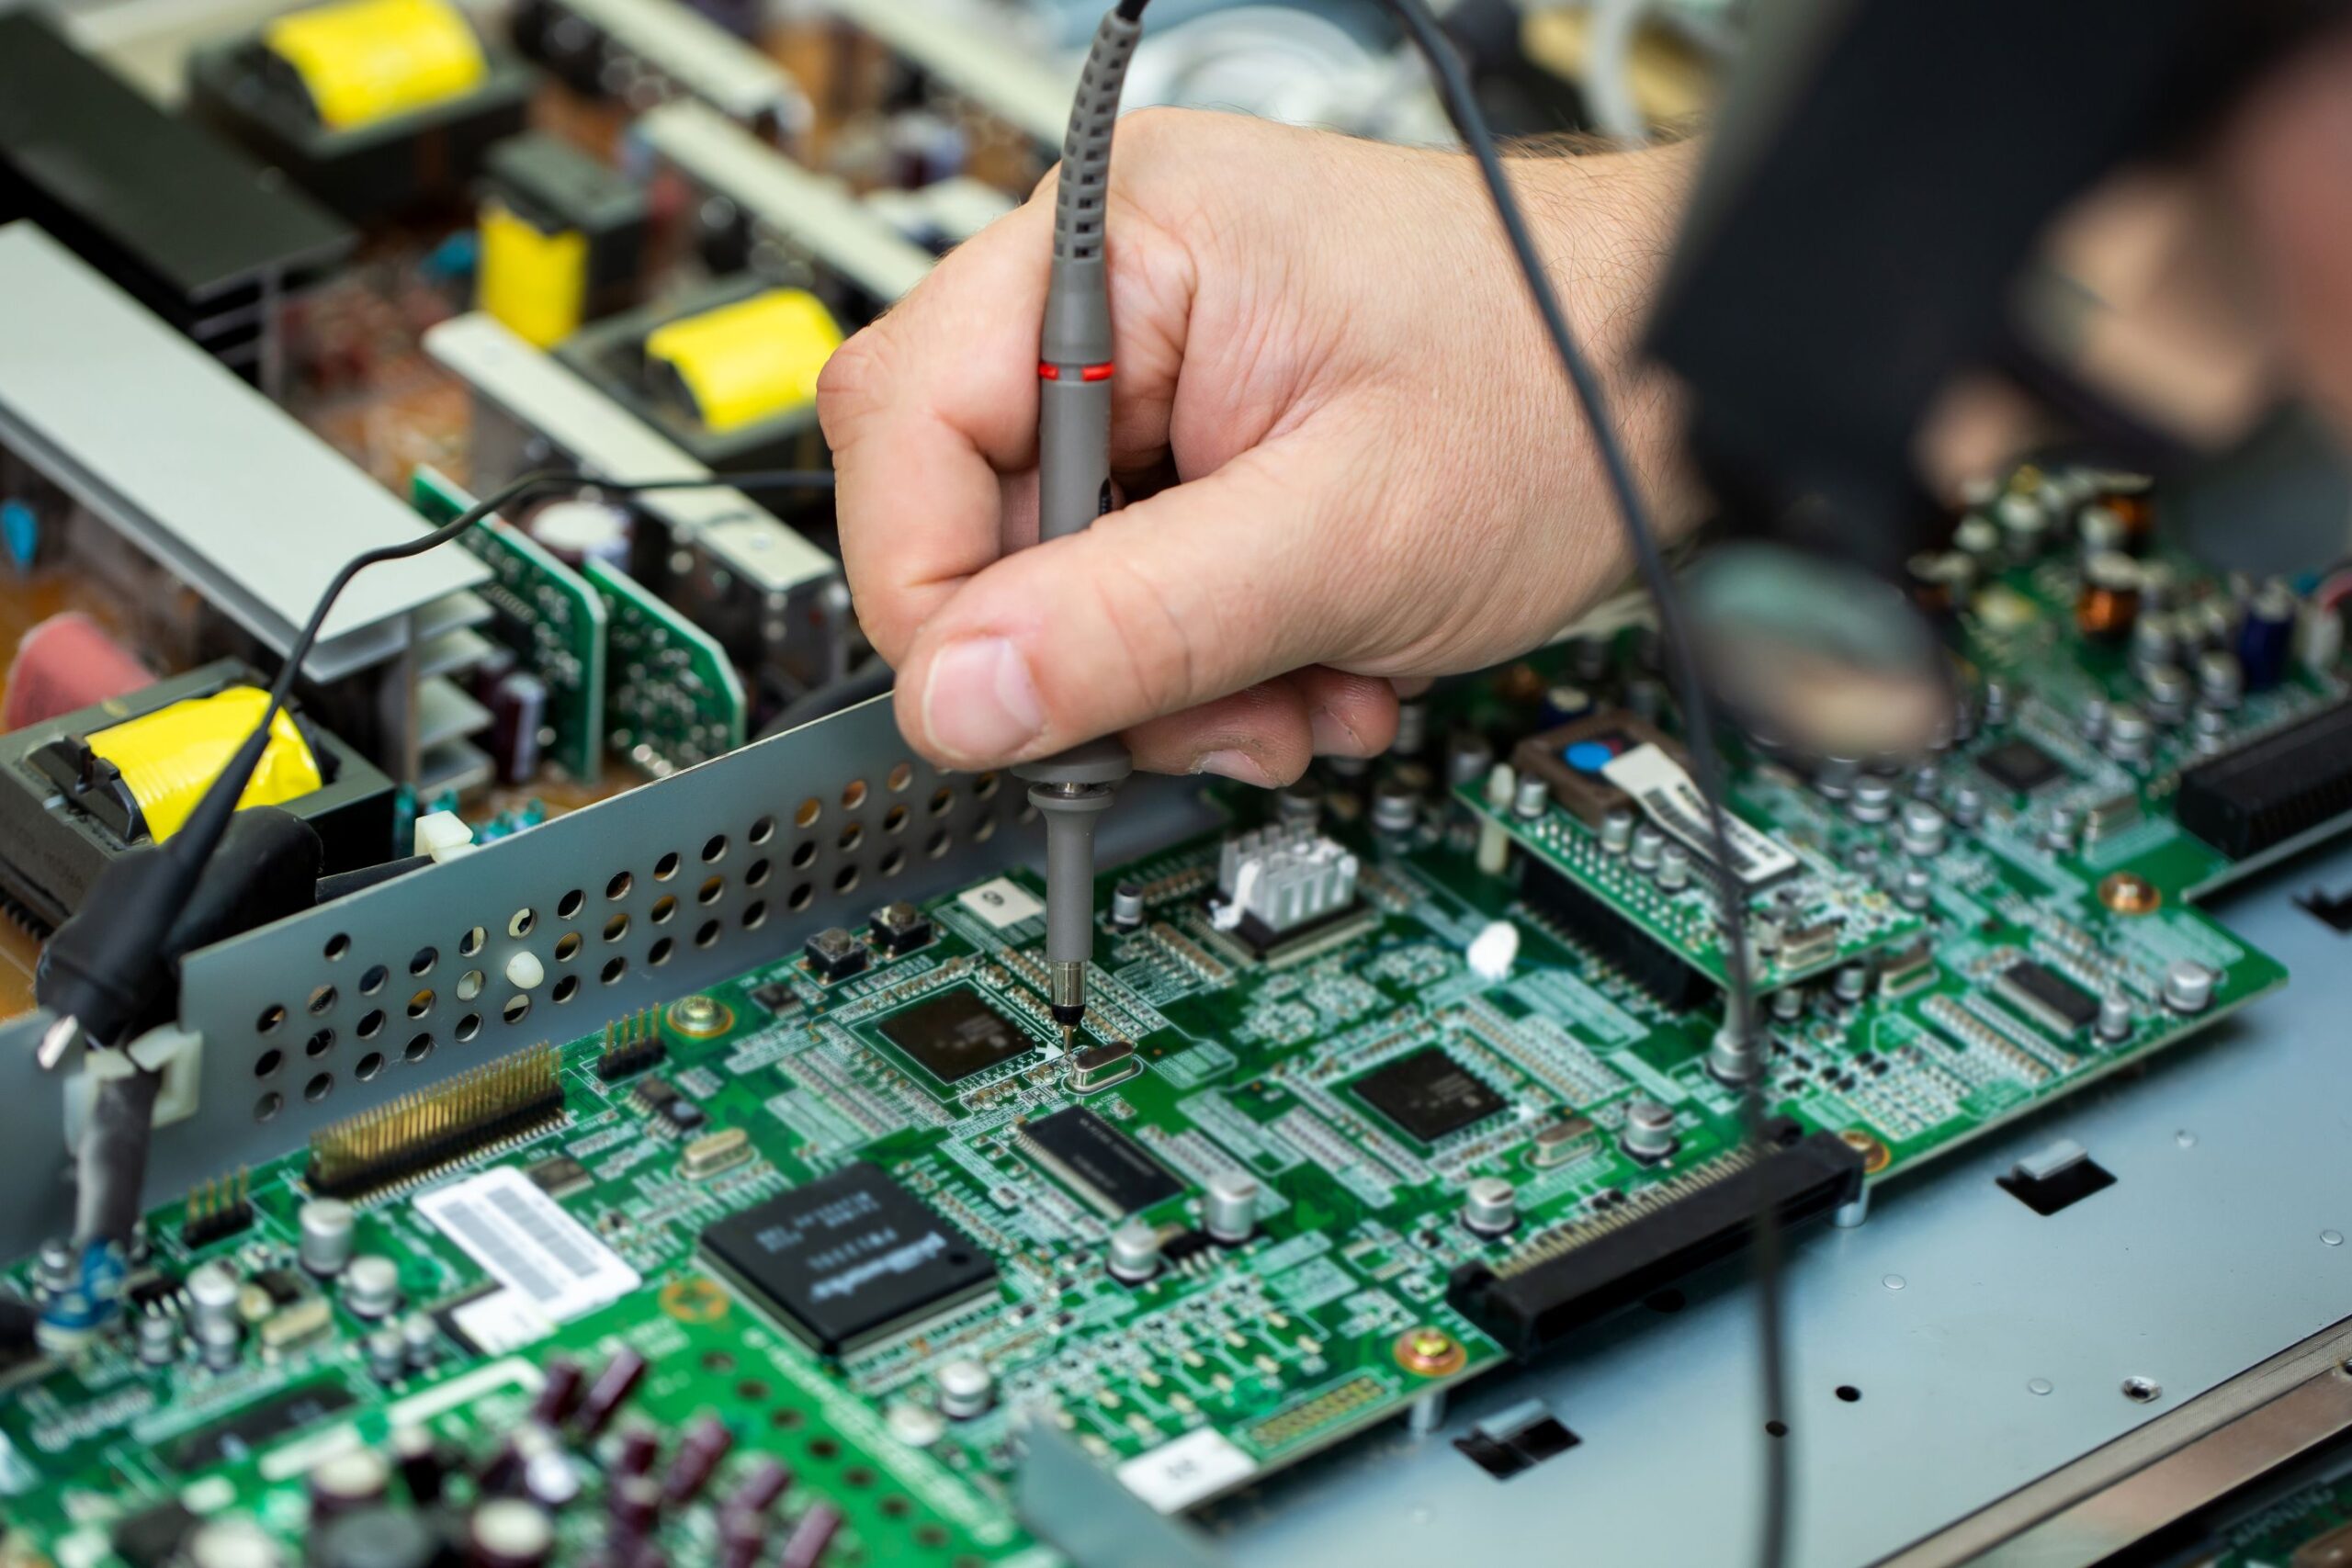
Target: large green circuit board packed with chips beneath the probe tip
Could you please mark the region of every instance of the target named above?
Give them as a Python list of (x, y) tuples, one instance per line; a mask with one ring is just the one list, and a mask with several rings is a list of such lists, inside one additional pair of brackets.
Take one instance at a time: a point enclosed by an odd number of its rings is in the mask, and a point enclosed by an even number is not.
[[(2166, 731), (2150, 759), (2114, 762), (2082, 741), (2082, 703), (2122, 696), (2129, 672), (2070, 630), (2070, 599), (2065, 571), (2027, 567), (1980, 595), (1990, 618), (1964, 623), (2006, 705), (1933, 776), (1900, 780), (1943, 802), (1983, 795), (1978, 820), (1950, 823), (1933, 853), (1907, 849), (1898, 818), (1858, 816), (1851, 792), (1738, 764), (1740, 816), (1832, 867), (1835, 900), (1875, 922), (1764, 1009), (1769, 1110), (1790, 1143), (1851, 1152), (1865, 1180), (2286, 980), (2187, 900), (2227, 865), (2169, 813), (2192, 743)], [(1623, 646), (1616, 658), (1632, 663)], [(1550, 675), (1465, 682), (1437, 717), (1508, 755), (1545, 726)], [(2272, 731), (2338, 696), (2333, 670), (2296, 670), (2249, 696), (2230, 731)], [(2020, 741), (2042, 762), (1994, 757)], [(428, 1427), (480, 1472), (550, 1366), (593, 1373), (635, 1352), (652, 1371), (616, 1429), (652, 1422), (675, 1448), (689, 1418), (715, 1413), (734, 1432), (710, 1495), (659, 1526), (673, 1561), (706, 1561), (715, 1500), (774, 1455), (800, 1476), (779, 1535), (837, 1509), (828, 1563), (1049, 1563), (1058, 1554), (1016, 1516), (1021, 1422), (1068, 1434), (1105, 1483), (1183, 1509), (1477, 1378), (1512, 1345), (1463, 1281), (1639, 1234), (1717, 1190), (1748, 1157), (1738, 1091), (1705, 1065), (1719, 999), (1670, 1004), (1623, 957), (1630, 933), (1689, 959), (1696, 917), (1665, 931), (1618, 914), (1602, 933), (1529, 867), (1564, 865), (1592, 891), (1611, 865), (1552, 853), (1543, 825), (1512, 813), (1482, 818), (1477, 788), (1430, 790), (1409, 835), (1371, 832), (1364, 785), (1327, 778), (1322, 818), (1355, 858), (1352, 903), (1275, 943), (1218, 917), (1225, 835), (1105, 870), (1096, 1006), (1073, 1041), (1044, 1004), (1042, 889), (1009, 872), (887, 917), (917, 940), (884, 940), (882, 924), (844, 933), (856, 957), (837, 976), (840, 945), (781, 952), (562, 1044), (560, 1103), (536, 1121), (355, 1199), (358, 1248), (397, 1260), (402, 1316), (423, 1324), (419, 1354), (388, 1371), (369, 1361), (379, 1324), (289, 1262), (294, 1213), (320, 1185), (310, 1154), (249, 1175), (252, 1220), (233, 1234), (191, 1246), (188, 1215), (151, 1215), (143, 1314), (183, 1314), (198, 1262), (287, 1300), (252, 1302), (221, 1368), (186, 1347), (155, 1366), (132, 1335), (108, 1335), (73, 1361), (0, 1373), (7, 1514), (82, 1563), (127, 1561), (108, 1556), (113, 1530), (172, 1500), (252, 1514), (294, 1542), (303, 1474), (322, 1458)], [(1237, 825), (1268, 811), (1244, 790), (1218, 799)], [(1510, 839), (1501, 872), (1479, 863), (1489, 825)], [(1929, 896), (1903, 903), (1896, 872), (1919, 863)], [(1108, 914), (1122, 882), (1143, 903), (1127, 926)], [(1475, 938), (1498, 924), (1517, 933), (1508, 969), (1472, 966)], [(2166, 997), (2180, 959), (2211, 980), (2194, 1006)], [(2119, 999), (2122, 1027), (2070, 1016), (2100, 997)], [(614, 1051), (623, 1070), (607, 1077)], [(1628, 1152), (1635, 1103), (1672, 1114), (1670, 1152)], [(1204, 1234), (1202, 1199), (1235, 1171), (1261, 1204), (1251, 1237), (1228, 1246)], [(1477, 1178), (1512, 1185), (1508, 1234), (1463, 1220)], [(541, 1194), (586, 1239), (564, 1267), (621, 1284), (576, 1312), (515, 1312), (524, 1265), (557, 1274), (557, 1300), (562, 1269), (546, 1253), (494, 1267), (463, 1244), (447, 1206), (485, 1182)], [(800, 1194), (837, 1190), (823, 1182), (915, 1204), (950, 1241), (948, 1265), (913, 1274), (953, 1265), (955, 1279), (924, 1309), (828, 1342), (804, 1288), (750, 1279), (724, 1246), (743, 1215), (797, 1222), (814, 1201)], [(1131, 1220), (1162, 1244), (1143, 1284), (1105, 1267)], [(14, 1284), (33, 1288), (33, 1265)], [(287, 1314), (301, 1333), (273, 1333)], [(964, 1361), (988, 1368), (993, 1396), (957, 1415), (943, 1387)], [(609, 1432), (576, 1441), (583, 1497), (562, 1512), (576, 1561), (604, 1528), (612, 1446)]]

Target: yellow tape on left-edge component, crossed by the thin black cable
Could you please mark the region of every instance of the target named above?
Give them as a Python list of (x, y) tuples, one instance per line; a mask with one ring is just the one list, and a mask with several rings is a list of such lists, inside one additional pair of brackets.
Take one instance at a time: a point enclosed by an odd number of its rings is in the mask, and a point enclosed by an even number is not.
[[(139, 802), (148, 837), (158, 844), (179, 832), (195, 802), (228, 759), (254, 733), (261, 710), (270, 705), (270, 693), (259, 686), (230, 686), (212, 696), (193, 696), (186, 703), (158, 708), (141, 719), (125, 719), (111, 729), (87, 736), (89, 750), (113, 762)], [(270, 743), (261, 750), (261, 766), (238, 797), (238, 806), (280, 806), (318, 790), (325, 778), (310, 743), (294, 729), (294, 719), (280, 712), (270, 722)]]

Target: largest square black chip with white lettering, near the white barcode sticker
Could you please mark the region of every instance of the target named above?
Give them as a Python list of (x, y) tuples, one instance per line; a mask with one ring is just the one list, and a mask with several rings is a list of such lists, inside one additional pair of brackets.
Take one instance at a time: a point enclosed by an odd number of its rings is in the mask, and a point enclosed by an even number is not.
[(720, 1220), (703, 1253), (828, 1356), (971, 1300), (997, 1276), (971, 1237), (866, 1161)]

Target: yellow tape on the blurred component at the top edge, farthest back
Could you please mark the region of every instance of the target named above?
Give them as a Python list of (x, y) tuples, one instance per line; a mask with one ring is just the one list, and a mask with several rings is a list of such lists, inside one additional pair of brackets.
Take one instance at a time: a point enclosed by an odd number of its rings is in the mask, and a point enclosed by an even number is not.
[(449, 0), (320, 5), (268, 24), (261, 42), (336, 132), (454, 99), (489, 75), (482, 40)]

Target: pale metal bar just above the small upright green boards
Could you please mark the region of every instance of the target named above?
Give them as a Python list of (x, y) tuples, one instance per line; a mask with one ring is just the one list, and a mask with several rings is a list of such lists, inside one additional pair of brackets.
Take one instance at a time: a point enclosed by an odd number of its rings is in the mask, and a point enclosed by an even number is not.
[[(609, 480), (699, 480), (710, 473), (567, 364), (480, 310), (426, 331), (426, 353), (456, 371), (477, 397), (546, 437), (588, 473)], [(475, 482), (489, 489), (506, 477), (510, 475), (477, 473)], [(724, 559), (760, 592), (786, 595), (840, 571), (830, 555), (739, 489), (656, 491), (637, 505), (661, 517), (673, 536), (701, 543)]]

